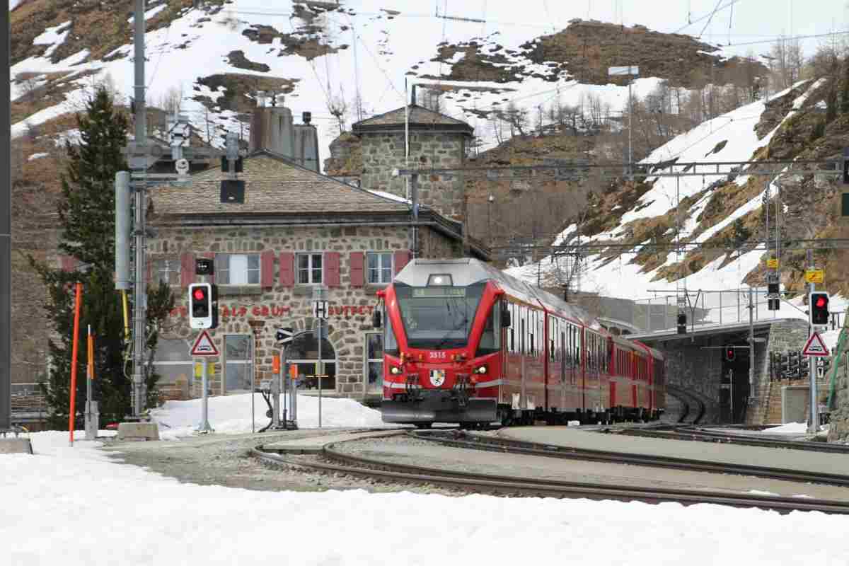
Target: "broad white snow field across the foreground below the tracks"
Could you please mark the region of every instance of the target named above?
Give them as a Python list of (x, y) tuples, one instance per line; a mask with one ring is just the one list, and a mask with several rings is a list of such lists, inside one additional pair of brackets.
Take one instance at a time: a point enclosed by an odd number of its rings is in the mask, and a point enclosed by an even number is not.
[(14, 541), (0, 546), (3, 564), (453, 566), (585, 562), (601, 552), (614, 563), (836, 566), (849, 553), (849, 517), (824, 513), (242, 490), (181, 484), (110, 460), (98, 443), (69, 448), (67, 433), (31, 440), (34, 456), (0, 456), (0, 540)]

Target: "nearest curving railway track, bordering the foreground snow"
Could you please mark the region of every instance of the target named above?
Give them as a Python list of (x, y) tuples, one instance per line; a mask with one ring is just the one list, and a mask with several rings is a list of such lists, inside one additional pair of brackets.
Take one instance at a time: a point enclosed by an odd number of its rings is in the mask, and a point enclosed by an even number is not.
[[(401, 433), (391, 433), (395, 435)], [(409, 433), (408, 433), (409, 434)], [(410, 434), (421, 438), (422, 434)], [(380, 459), (355, 456), (338, 450), (345, 440), (323, 446), (321, 457), (314, 460), (293, 458), (263, 446), (251, 451), (253, 457), (272, 465), (301, 466), (329, 474), (350, 474), (368, 479), (381, 479), (396, 483), (430, 484), (469, 490), (475, 493), (493, 493), (506, 496), (540, 496), (557, 498), (587, 498), (593, 500), (640, 501), (649, 503), (678, 502), (683, 505), (717, 503), (733, 507), (758, 507), (779, 513), (791, 511), (820, 511), (849, 514), (849, 503), (818, 499), (800, 499), (784, 496), (759, 496), (722, 491), (674, 490), (642, 488), (631, 485), (593, 484), (550, 479), (523, 479), (496, 474), (478, 474), (412, 464), (385, 462)], [(504, 449), (502, 449), (504, 450)], [(514, 453), (529, 453), (510, 450)]]

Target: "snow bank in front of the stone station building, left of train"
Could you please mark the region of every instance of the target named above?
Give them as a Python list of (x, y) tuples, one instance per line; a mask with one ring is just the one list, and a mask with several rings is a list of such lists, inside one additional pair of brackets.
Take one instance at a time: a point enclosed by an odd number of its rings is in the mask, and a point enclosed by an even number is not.
[[(250, 433), (250, 393), (209, 398), (209, 423), (216, 434)], [(282, 402), (282, 398), (281, 398)], [(268, 424), (268, 406), (261, 395), (254, 395), (255, 429)], [(161, 408), (150, 412), (160, 423), (160, 437), (172, 440), (194, 434), (200, 423), (201, 400), (166, 401)], [(301, 429), (318, 427), (318, 397), (298, 395), (298, 426)], [(363, 406), (352, 399), (322, 399), (323, 427), (383, 427), (380, 411)]]

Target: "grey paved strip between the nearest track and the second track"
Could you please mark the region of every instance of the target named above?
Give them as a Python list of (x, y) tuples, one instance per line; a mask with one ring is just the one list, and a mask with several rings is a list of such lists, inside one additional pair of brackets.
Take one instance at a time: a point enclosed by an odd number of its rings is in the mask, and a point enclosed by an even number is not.
[(849, 488), (832, 485), (801, 484), (778, 479), (709, 472), (683, 472), (629, 464), (559, 460), (543, 456), (437, 446), (425, 442), (413, 444), (406, 439), (366, 440), (351, 446), (343, 446), (340, 450), (392, 463), (527, 479), (554, 479), (585, 484), (628, 485), (673, 490), (717, 490), (728, 493), (814, 497), (849, 502)]

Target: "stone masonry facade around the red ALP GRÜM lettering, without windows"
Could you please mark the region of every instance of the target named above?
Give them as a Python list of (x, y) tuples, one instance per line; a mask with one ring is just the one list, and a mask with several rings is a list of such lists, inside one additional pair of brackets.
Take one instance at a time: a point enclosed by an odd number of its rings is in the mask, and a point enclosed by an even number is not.
[[(447, 238), (422, 229), (425, 257), (445, 257), (450, 248)], [(219, 326), (210, 332), (219, 351), (223, 349), (226, 334), (250, 334), (248, 321), (266, 321), (256, 344), (256, 384), (273, 374), (273, 356), (279, 352), (274, 337), (275, 328), (292, 327), (295, 330), (313, 328), (312, 287), (280, 284), (279, 254), (291, 252), (340, 252), (340, 287), (328, 289), (331, 307), (329, 342), (336, 354), (336, 389), (340, 395), (361, 398), (363, 392), (364, 333), (372, 330), (371, 312), (377, 305), (377, 287), (351, 287), (351, 251), (396, 251), (411, 249), (412, 238), (408, 227), (291, 227), (291, 228), (207, 228), (190, 230), (163, 227), (156, 238), (149, 240), (149, 260), (179, 259), (186, 252), (196, 257), (208, 253), (259, 253), (274, 251), (274, 285), (271, 289), (258, 286), (230, 287), (219, 285)], [(202, 277), (196, 277), (200, 281)], [(172, 312), (171, 324), (163, 339), (194, 339), (197, 331), (188, 328), (188, 294), (175, 286), (177, 308)], [(226, 307), (226, 311), (225, 311)], [(227, 313), (228, 316), (224, 316)], [(234, 314), (233, 314), (234, 313)], [(188, 359), (188, 353), (187, 353)], [(212, 365), (211, 390), (214, 395), (223, 393), (222, 360), (210, 358)], [(192, 395), (200, 395), (199, 388)]]

